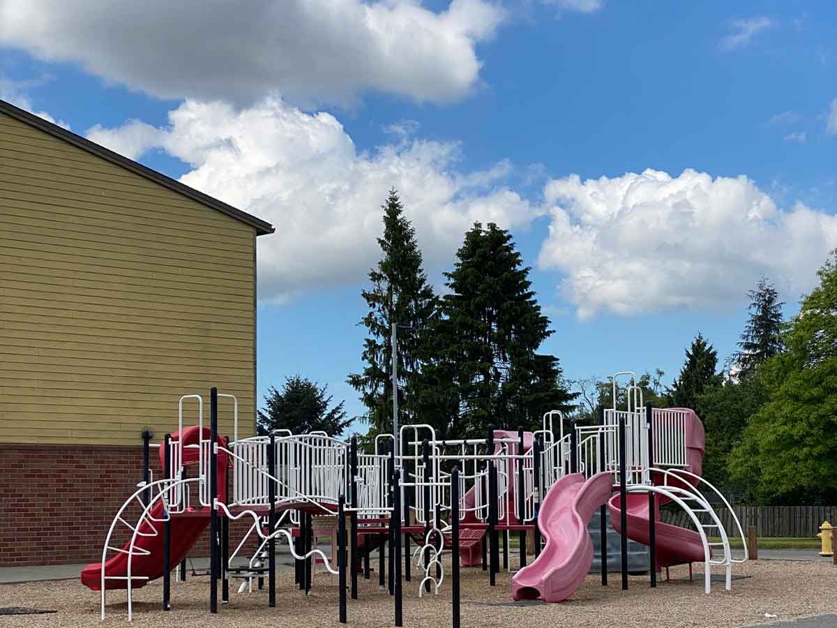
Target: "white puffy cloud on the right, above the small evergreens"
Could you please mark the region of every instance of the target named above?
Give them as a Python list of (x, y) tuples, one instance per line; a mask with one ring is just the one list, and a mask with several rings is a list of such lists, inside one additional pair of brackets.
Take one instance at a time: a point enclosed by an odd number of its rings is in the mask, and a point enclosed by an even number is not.
[(743, 176), (572, 175), (545, 194), (551, 224), (538, 262), (562, 273), (581, 319), (719, 308), (740, 302), (761, 275), (805, 291), (837, 246), (837, 217), (801, 203), (780, 209)]

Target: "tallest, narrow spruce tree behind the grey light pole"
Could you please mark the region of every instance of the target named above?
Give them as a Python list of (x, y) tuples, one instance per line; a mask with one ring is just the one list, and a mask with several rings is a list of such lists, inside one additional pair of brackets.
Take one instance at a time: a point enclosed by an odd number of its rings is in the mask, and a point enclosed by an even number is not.
[(362, 417), (372, 435), (390, 432), (393, 426), (392, 323), (398, 325), (398, 414), (410, 422), (415, 413), (419, 377), (419, 332), (434, 315), (436, 298), (422, 270), (422, 254), (415, 229), (404, 216), (398, 193), (390, 190), (383, 204), (383, 237), (377, 239), (383, 253), (369, 270), (372, 287), (362, 291), (369, 311), (361, 324), (368, 336), (363, 342), (362, 373), (348, 383), (360, 393), (366, 406)]

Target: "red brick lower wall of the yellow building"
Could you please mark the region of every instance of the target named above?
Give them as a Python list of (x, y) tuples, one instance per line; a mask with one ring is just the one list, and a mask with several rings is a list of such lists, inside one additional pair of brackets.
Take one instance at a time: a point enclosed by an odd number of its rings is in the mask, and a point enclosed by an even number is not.
[[(150, 458), (162, 478), (157, 448)], [(141, 446), (0, 444), (0, 567), (99, 562), (110, 522), (141, 480)], [(230, 522), (231, 552), (251, 524)], [(121, 547), (127, 532), (121, 527), (112, 544)], [(208, 536), (191, 556), (208, 556)]]

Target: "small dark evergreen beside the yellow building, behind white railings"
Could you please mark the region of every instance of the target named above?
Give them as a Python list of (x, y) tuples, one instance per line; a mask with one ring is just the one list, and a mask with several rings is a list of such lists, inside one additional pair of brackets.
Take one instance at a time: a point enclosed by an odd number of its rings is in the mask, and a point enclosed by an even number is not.
[(271, 388), (259, 410), (259, 434), (273, 430), (290, 430), (293, 434), (323, 431), (339, 436), (352, 423), (346, 418), (345, 402), (329, 408), (331, 395), (327, 385), (320, 386), (308, 378), (294, 375), (285, 379), (281, 390)]

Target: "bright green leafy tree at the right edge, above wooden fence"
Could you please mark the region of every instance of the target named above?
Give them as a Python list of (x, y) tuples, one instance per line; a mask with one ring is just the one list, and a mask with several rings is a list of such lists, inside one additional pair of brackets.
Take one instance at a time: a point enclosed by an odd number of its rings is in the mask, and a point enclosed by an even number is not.
[(837, 498), (837, 257), (818, 275), (783, 337), (787, 351), (758, 369), (769, 400), (732, 451), (733, 479), (761, 501)]

